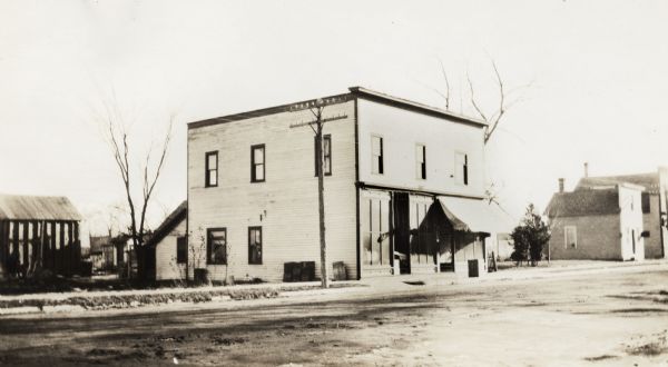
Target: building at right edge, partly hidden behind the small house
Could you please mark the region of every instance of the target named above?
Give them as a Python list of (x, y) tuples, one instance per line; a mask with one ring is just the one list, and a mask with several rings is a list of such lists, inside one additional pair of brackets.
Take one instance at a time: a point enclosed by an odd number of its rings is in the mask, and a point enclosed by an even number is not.
[(584, 177), (578, 182), (577, 189), (610, 188), (615, 185), (629, 182), (645, 188), (642, 192), (642, 226), (647, 231), (645, 238), (645, 257), (662, 259), (668, 256), (668, 168), (661, 167), (657, 172)]

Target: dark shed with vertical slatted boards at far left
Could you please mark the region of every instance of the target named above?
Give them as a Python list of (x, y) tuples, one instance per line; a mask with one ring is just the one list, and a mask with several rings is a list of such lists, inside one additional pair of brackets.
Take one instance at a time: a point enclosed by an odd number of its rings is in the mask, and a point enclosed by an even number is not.
[(0, 275), (78, 274), (80, 220), (66, 197), (0, 195)]

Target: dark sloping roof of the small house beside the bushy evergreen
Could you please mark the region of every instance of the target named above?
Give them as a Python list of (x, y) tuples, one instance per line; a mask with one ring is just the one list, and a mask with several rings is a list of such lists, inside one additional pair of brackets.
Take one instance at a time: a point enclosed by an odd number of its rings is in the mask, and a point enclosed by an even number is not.
[(611, 215), (619, 211), (619, 194), (613, 188), (557, 192), (548, 204), (546, 215), (554, 218)]

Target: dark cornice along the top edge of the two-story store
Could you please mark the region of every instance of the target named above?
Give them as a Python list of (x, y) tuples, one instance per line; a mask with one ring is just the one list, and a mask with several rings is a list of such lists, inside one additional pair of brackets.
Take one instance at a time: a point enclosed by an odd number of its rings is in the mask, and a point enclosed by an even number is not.
[[(362, 87), (351, 87), (351, 88), (348, 88), (348, 90), (350, 90), (348, 93), (323, 97), (322, 99), (324, 100), (325, 105), (336, 105), (336, 103), (344, 103), (356, 97), (360, 97), (360, 98), (365, 98), (365, 99), (373, 100), (376, 102), (426, 113), (430, 116), (445, 118), (445, 119), (453, 120), (456, 122), (463, 122), (463, 123), (479, 126), (479, 127), (485, 127), (488, 125), (487, 122), (484, 122), (480, 119), (465, 117), (463, 115), (454, 113), (454, 112), (446, 111), (446, 110), (435, 108), (435, 107), (431, 107), (428, 105), (422, 105), (422, 103), (414, 102), (414, 101), (411, 101), (407, 99), (381, 93), (381, 92), (377, 92), (377, 91), (374, 91), (371, 89), (366, 89), (366, 88), (362, 88)], [(225, 122), (230, 122), (230, 121), (245, 120), (245, 119), (249, 119), (249, 118), (254, 118), (254, 117), (262, 117), (262, 116), (274, 115), (274, 113), (279, 113), (279, 112), (305, 110), (305, 109), (315, 107), (315, 103), (316, 103), (316, 99), (310, 99), (310, 100), (294, 102), (294, 103), (274, 106), (274, 107), (263, 108), (263, 109), (247, 111), (247, 112), (240, 112), (240, 113), (227, 115), (227, 116), (223, 116), (223, 117), (216, 117), (213, 119), (194, 121), (194, 122), (188, 123), (188, 129), (212, 126), (212, 125), (218, 125), (218, 123), (225, 123)]]

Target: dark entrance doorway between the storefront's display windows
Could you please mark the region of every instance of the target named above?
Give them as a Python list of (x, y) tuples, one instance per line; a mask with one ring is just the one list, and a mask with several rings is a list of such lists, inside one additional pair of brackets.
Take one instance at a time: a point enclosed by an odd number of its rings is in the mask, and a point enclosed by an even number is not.
[(411, 274), (411, 225), (409, 194), (394, 192), (392, 212), (394, 217), (394, 261), (400, 261), (400, 272)]

